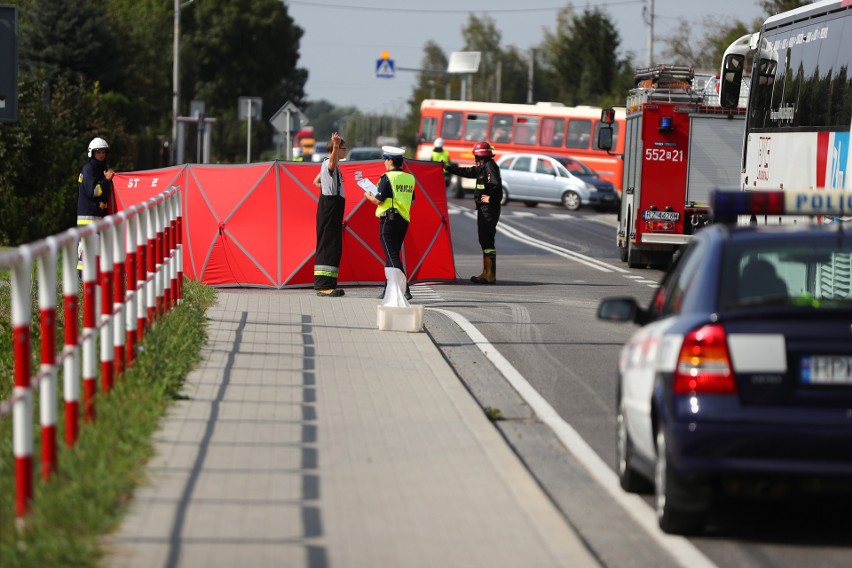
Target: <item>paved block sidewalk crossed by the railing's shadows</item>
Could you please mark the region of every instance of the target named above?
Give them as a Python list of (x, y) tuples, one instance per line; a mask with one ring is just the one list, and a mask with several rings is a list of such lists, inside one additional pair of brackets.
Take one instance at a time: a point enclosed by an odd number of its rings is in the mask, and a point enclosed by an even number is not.
[(219, 291), (105, 564), (598, 565), (429, 335), (378, 331), (375, 292)]

